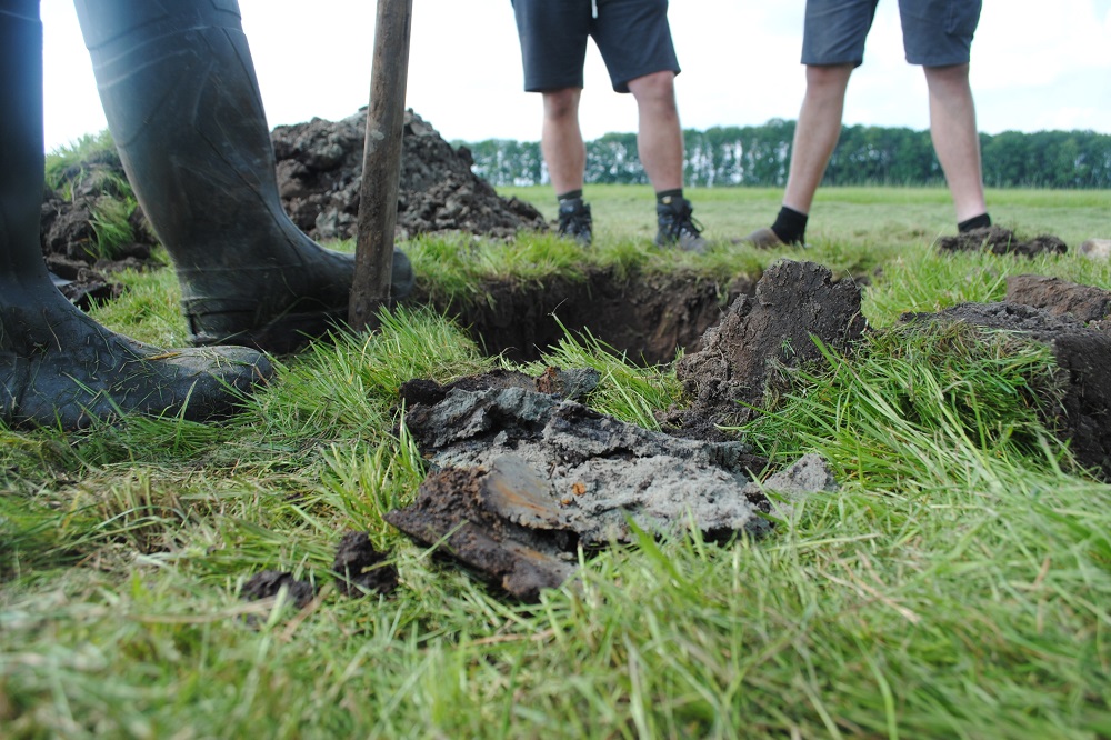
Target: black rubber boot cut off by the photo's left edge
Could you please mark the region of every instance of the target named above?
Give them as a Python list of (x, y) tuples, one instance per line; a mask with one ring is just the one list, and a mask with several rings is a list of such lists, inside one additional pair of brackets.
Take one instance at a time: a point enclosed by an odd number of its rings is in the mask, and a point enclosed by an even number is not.
[(39, 242), (39, 0), (0, 0), (0, 422), (72, 430), (120, 413), (200, 420), (272, 373), (244, 348), (166, 351), (113, 333), (58, 292)]

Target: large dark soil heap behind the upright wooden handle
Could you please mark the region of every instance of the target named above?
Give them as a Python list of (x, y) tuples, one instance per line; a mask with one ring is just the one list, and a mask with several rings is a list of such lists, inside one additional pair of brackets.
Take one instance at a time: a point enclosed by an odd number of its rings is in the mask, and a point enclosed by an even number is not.
[[(366, 109), (341, 121), (316, 118), (273, 130), (282, 206), (313, 239), (356, 236), (366, 132)], [(548, 228), (540, 211), (501, 198), (471, 172), (471, 164), (466, 147), (453, 149), (429, 123), (406, 111), (398, 238), (439, 231), (507, 238), (521, 229)]]

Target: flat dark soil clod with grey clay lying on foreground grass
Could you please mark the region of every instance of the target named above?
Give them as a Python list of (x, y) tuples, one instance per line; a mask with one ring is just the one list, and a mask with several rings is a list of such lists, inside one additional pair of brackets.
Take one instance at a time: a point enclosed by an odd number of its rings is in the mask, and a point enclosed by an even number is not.
[[(406, 426), (432, 472), (386, 519), (516, 597), (567, 580), (580, 544), (631, 542), (638, 530), (758, 536), (782, 513), (754, 482), (764, 461), (743, 442), (642, 429), (503, 378), (470, 386), (410, 408)], [(822, 472), (777, 479), (784, 493), (835, 488), (824, 463), (798, 464)]]

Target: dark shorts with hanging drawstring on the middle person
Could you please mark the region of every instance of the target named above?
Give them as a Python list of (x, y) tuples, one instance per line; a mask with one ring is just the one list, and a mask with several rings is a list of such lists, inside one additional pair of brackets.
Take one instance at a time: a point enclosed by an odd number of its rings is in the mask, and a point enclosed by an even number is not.
[(524, 89), (582, 87), (587, 39), (593, 38), (618, 92), (629, 80), (670, 70), (679, 73), (668, 24), (668, 0), (512, 0), (521, 37)]

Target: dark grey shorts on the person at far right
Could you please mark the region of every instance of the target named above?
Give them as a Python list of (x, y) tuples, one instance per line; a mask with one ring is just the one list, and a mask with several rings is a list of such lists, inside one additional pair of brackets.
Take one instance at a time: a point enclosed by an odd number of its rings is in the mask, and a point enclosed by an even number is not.
[[(864, 61), (864, 39), (879, 0), (807, 0), (803, 64)], [(967, 64), (981, 0), (899, 0), (907, 61), (923, 67)]]

